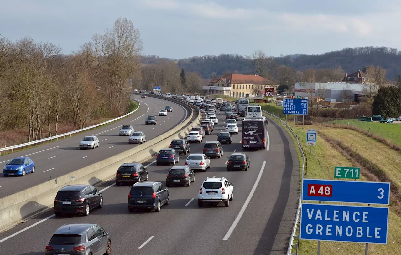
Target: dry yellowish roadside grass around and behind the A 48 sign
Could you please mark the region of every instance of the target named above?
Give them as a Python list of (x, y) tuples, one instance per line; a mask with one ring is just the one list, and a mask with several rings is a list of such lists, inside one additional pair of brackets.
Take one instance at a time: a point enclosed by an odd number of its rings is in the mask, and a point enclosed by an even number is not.
[[(341, 139), (341, 141), (346, 143), (346, 145), (351, 146), (353, 150), (362, 154), (364, 157), (373, 157), (373, 161), (380, 165), (383, 169), (385, 169), (387, 175), (390, 175), (390, 172), (392, 172), (393, 175), (396, 175), (398, 173), (398, 168), (389, 168), (391, 162), (395, 164), (396, 161), (394, 161), (394, 159), (398, 152), (393, 151), (388, 147), (385, 148), (386, 145), (382, 145), (374, 139), (370, 139), (369, 137), (366, 137), (365, 135), (356, 131), (352, 133), (348, 129), (333, 129), (329, 127), (312, 125), (306, 125), (304, 129), (300, 127), (295, 127), (293, 129), (293, 131), (300, 138), (301, 144), (306, 145), (306, 130), (308, 128), (317, 129), (318, 132), (322, 132), (324, 135), (335, 137), (336, 139)], [(355, 137), (357, 137), (357, 139), (355, 139)], [(306, 169), (307, 178), (332, 180), (334, 179), (334, 167), (354, 166), (351, 158), (346, 157), (344, 154), (340, 153), (338, 150), (335, 149), (332, 144), (328, 143), (320, 135), (318, 135), (317, 137), (316, 145), (312, 146), (312, 155), (310, 155), (309, 149), (310, 148), (308, 147), (304, 147), (306, 157), (308, 158), (308, 165)], [(375, 156), (375, 152), (369, 152), (369, 149), (372, 151), (376, 151), (376, 153), (378, 153), (378, 151), (380, 150), (383, 152)], [(371, 177), (369, 176), (369, 173), (367, 173), (366, 171), (362, 172), (361, 169), (359, 181), (367, 180), (365, 175)], [(397, 182), (398, 181), (401, 181), (399, 177), (397, 177)], [(369, 245), (369, 255), (401, 254), (401, 246), (399, 245), (401, 243), (401, 233), (399, 229), (401, 229), (401, 217), (399, 216), (399, 214), (397, 214), (396, 210), (390, 207), (387, 242), (388, 244)], [(322, 254), (327, 255), (356, 255), (364, 253), (365, 244), (322, 241), (320, 243), (320, 250)], [(304, 255), (316, 253), (317, 241), (300, 241), (300, 249), (298, 251), (298, 254)]]

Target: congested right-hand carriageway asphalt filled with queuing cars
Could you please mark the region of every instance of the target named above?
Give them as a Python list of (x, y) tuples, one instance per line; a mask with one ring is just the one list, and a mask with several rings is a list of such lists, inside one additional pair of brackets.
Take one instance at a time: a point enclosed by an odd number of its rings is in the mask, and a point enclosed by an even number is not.
[[(191, 144), (191, 153), (201, 153), (205, 141), (217, 140), (225, 122), (221, 112), (217, 114), (219, 124), (203, 143)], [(190, 187), (170, 187), (170, 204), (159, 213), (129, 213), (130, 186), (116, 187), (110, 180), (98, 188), (103, 193), (102, 209), (91, 211), (88, 217), (56, 218), (52, 211), (38, 215), (1, 233), (0, 249), (8, 255), (43, 254), (61, 225), (97, 223), (110, 234), (111, 253), (117, 255), (285, 254), (298, 201), (298, 156), (282, 126), (270, 120), (267, 131), (267, 148), (247, 152), (251, 157), (248, 171), (228, 172), (225, 165), (231, 153), (243, 151), (240, 131), (233, 135), (232, 144), (224, 145), (224, 157), (211, 159), (207, 172), (195, 173)], [(184, 165), (185, 159), (180, 156), (178, 165)], [(156, 166), (155, 158), (144, 165), (149, 180), (162, 183), (171, 167)], [(198, 207), (198, 190), (206, 177), (226, 177), (233, 183), (234, 199), (229, 207)]]

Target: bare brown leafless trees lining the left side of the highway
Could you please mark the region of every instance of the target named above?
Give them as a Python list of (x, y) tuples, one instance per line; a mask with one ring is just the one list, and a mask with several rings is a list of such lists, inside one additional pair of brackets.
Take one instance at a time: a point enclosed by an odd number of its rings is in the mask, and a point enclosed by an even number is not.
[(119, 18), (69, 55), (52, 43), (0, 35), (0, 131), (24, 128), (28, 141), (128, 109), (129, 78), (141, 72), (140, 32)]

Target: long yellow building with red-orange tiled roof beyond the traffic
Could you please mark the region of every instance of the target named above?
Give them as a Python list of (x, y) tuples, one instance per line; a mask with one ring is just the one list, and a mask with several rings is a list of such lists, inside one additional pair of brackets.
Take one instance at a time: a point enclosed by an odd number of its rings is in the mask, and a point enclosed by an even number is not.
[(230, 74), (223, 78), (215, 78), (210, 82), (210, 86), (204, 89), (208, 90), (208, 94), (225, 94), (235, 98), (245, 98), (261, 96), (265, 87), (277, 88), (277, 86), (259, 75)]

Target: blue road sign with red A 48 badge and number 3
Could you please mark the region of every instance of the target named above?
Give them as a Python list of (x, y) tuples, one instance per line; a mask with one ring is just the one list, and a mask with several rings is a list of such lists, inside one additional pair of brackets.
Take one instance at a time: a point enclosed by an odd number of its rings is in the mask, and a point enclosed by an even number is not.
[(303, 179), (302, 200), (389, 205), (390, 183)]

